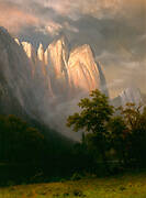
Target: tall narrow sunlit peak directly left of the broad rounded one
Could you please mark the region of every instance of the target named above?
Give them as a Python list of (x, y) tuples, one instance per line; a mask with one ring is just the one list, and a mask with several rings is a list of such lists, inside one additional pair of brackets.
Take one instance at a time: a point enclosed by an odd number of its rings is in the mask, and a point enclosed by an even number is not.
[(54, 41), (45, 51), (45, 65), (57, 97), (68, 90), (68, 43), (65, 36)]

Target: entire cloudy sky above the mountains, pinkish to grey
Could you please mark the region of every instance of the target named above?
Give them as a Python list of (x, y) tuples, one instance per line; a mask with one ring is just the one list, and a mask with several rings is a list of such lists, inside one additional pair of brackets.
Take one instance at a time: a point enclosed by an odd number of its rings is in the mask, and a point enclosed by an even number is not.
[(0, 26), (34, 46), (60, 33), (71, 47), (90, 44), (112, 97), (146, 92), (146, 0), (0, 0)]

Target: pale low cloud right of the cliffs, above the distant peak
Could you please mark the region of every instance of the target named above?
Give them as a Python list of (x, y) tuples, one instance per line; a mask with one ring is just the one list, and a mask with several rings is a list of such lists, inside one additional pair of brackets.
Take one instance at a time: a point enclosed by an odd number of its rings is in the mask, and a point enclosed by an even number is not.
[[(103, 51), (97, 61), (104, 66), (104, 75), (106, 76), (108, 88), (112, 98), (116, 97), (123, 89), (135, 86), (145, 92), (146, 85), (146, 58), (135, 59), (131, 52), (123, 50), (123, 53), (110, 53)], [(106, 63), (106, 64), (105, 64)]]

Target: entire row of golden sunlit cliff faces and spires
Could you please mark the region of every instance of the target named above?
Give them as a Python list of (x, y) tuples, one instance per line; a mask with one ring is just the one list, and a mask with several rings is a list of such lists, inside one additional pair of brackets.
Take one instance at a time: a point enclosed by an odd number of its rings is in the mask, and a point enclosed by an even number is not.
[[(40, 44), (35, 53), (32, 44), (19, 42), (26, 53), (32, 68), (32, 77), (35, 77), (40, 69), (40, 76), (48, 79), (52, 96), (76, 97), (79, 92), (88, 94), (98, 88), (101, 89), (102, 80), (99, 67), (94, 61), (89, 45), (79, 46), (71, 52), (68, 48), (66, 37), (61, 36), (48, 45), (46, 51)], [(36, 77), (35, 77), (36, 78)], [(105, 84), (105, 80), (103, 81)]]

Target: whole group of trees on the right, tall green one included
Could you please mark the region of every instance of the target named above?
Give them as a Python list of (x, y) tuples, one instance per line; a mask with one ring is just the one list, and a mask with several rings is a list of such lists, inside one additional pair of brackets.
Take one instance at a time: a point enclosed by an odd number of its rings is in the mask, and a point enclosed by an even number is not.
[(116, 168), (146, 167), (146, 107), (126, 103), (114, 108), (99, 90), (78, 106), (80, 112), (68, 117), (67, 125), (83, 132), (80, 146), (97, 163), (102, 162), (108, 172), (113, 162)]

